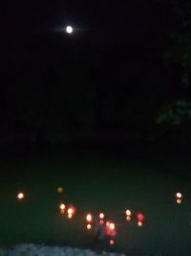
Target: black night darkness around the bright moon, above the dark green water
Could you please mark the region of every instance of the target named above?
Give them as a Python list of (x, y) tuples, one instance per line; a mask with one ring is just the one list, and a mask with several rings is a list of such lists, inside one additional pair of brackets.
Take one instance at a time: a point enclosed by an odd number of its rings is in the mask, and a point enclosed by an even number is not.
[(162, 0), (4, 2), (2, 145), (186, 141), (187, 10)]

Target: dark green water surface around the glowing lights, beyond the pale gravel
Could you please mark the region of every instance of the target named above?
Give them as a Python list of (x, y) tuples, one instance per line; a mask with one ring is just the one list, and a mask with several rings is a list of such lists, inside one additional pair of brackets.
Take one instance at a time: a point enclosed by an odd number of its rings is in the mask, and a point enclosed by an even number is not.
[[(0, 245), (20, 243), (93, 247), (87, 212), (103, 211), (117, 224), (116, 251), (142, 255), (191, 255), (190, 166), (178, 159), (70, 156), (1, 162)], [(62, 186), (63, 194), (56, 193)], [(15, 199), (24, 191), (23, 201)], [(175, 193), (183, 195), (181, 205)], [(57, 211), (63, 200), (76, 215)], [(125, 221), (124, 211), (145, 215), (143, 227)], [(168, 253), (168, 254), (167, 254)]]

